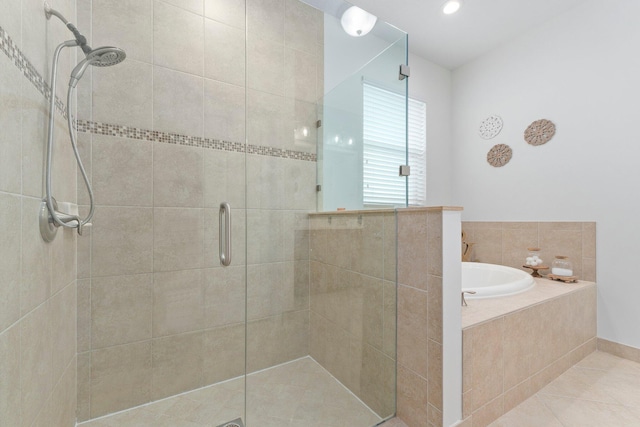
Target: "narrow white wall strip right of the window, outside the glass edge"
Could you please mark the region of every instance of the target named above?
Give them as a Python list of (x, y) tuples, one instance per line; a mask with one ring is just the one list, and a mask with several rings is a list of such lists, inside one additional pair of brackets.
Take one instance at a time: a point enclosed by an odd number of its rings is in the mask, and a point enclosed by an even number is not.
[[(411, 46), (411, 36), (409, 36)], [(409, 96), (427, 104), (427, 206), (451, 205), (451, 71), (409, 54)]]

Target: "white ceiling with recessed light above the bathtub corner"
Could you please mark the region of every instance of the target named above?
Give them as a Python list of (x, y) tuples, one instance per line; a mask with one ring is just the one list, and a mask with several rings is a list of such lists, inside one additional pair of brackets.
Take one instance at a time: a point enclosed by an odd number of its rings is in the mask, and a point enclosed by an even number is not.
[(445, 0), (349, 1), (409, 33), (414, 54), (455, 69), (585, 0), (463, 0), (453, 15)]

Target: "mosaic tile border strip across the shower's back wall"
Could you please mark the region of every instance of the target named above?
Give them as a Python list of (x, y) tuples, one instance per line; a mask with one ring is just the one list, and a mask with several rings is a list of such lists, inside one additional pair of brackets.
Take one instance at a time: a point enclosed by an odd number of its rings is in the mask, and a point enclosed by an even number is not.
[(208, 148), (236, 153), (257, 154), (259, 156), (279, 157), (283, 159), (317, 161), (315, 153), (285, 150), (282, 148), (265, 147), (262, 145), (243, 144), (241, 142), (223, 141), (220, 139), (201, 138), (198, 136), (181, 135), (177, 133), (160, 132), (148, 129), (138, 129), (129, 126), (99, 123), (89, 120), (77, 120), (75, 127), (78, 132), (95, 135), (115, 136), (118, 138), (138, 139), (141, 141), (161, 142), (165, 144), (184, 145), (188, 147)]

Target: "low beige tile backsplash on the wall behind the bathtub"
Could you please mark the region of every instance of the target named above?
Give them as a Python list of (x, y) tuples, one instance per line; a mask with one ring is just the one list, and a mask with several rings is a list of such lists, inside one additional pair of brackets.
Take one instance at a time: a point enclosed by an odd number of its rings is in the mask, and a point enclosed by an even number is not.
[[(477, 262), (522, 268), (527, 248), (541, 249), (551, 267), (556, 255), (568, 256), (574, 274), (596, 281), (595, 222), (462, 222), (467, 242), (473, 242), (471, 259)], [(545, 273), (545, 271), (543, 271)]]

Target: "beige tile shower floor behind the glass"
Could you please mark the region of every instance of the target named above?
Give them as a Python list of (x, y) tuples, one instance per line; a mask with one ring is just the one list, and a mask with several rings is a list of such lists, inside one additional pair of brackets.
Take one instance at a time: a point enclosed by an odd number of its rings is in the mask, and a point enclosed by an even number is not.
[[(244, 379), (235, 379), (82, 427), (217, 427), (243, 414)], [(371, 427), (381, 420), (311, 358), (247, 377), (248, 427)]]

